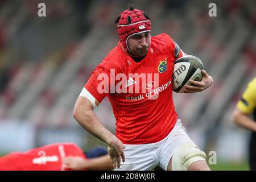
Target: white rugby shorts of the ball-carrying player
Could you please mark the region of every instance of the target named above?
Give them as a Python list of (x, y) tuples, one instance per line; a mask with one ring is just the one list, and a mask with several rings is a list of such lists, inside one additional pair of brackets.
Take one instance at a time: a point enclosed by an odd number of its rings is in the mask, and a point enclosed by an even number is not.
[(188, 137), (185, 127), (180, 119), (174, 126), (174, 129), (163, 140), (148, 144), (124, 144), (125, 162), (121, 160), (121, 167), (115, 170), (125, 171), (146, 171), (152, 170), (156, 166), (167, 170), (168, 163), (174, 154), (176, 147), (181, 144), (193, 141)]

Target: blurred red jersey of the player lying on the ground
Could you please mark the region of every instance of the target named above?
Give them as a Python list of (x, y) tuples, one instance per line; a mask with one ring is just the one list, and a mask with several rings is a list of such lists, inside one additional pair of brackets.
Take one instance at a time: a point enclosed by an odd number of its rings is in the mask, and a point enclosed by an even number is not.
[(27, 152), (12, 152), (0, 158), (0, 171), (60, 171), (68, 170), (62, 163), (67, 156), (80, 156), (84, 152), (74, 143), (55, 143)]

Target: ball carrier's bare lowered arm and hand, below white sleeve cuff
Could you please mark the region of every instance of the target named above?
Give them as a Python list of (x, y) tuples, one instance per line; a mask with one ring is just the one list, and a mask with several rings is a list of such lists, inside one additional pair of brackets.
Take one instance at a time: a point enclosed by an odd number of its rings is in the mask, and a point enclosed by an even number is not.
[[(96, 101), (96, 105), (99, 102)], [(114, 168), (120, 167), (121, 158), (125, 162), (125, 148), (122, 142), (107, 130), (93, 112), (93, 105), (86, 97), (77, 98), (73, 117), (90, 134), (108, 144), (110, 162)]]

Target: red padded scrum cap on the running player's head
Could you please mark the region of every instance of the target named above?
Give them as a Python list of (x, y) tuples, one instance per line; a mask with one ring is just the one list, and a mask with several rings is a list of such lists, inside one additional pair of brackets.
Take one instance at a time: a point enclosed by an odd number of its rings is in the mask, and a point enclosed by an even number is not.
[(133, 6), (130, 6), (130, 9), (123, 11), (118, 16), (115, 23), (118, 23), (117, 32), (119, 40), (123, 48), (128, 50), (127, 42), (130, 36), (151, 31), (150, 19), (145, 16), (143, 11), (134, 9)]

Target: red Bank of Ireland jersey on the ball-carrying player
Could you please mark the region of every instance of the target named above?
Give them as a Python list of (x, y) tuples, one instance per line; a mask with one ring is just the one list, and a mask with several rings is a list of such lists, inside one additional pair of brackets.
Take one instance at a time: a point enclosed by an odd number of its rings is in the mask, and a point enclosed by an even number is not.
[(139, 63), (118, 43), (94, 69), (84, 87), (99, 102), (109, 98), (122, 143), (155, 143), (170, 133), (177, 120), (171, 76), (174, 61), (181, 56), (171, 37), (160, 34), (151, 37), (148, 53)]

